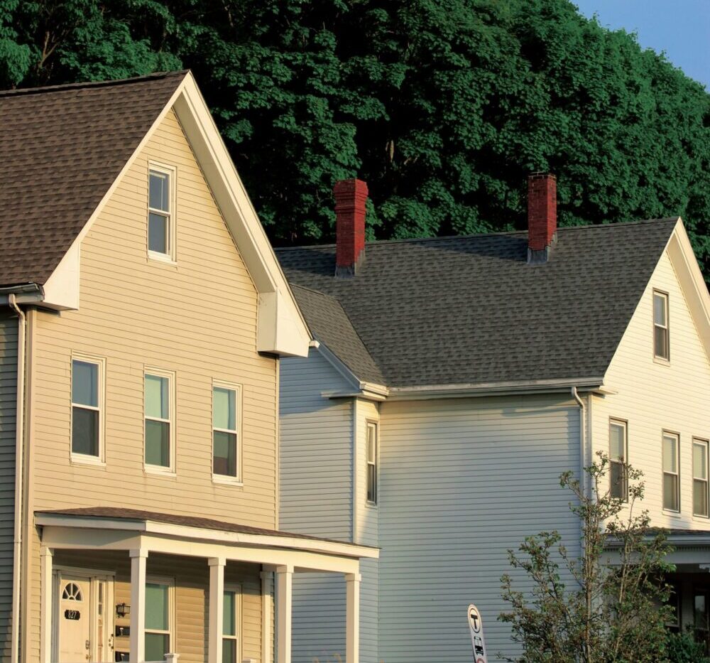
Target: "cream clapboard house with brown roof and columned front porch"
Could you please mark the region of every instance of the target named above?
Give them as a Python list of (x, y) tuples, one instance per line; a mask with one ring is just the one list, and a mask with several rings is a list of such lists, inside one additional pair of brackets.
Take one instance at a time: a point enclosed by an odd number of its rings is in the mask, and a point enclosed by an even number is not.
[(357, 661), (377, 551), (278, 531), (311, 336), (192, 75), (1, 92), (0, 145), (2, 659), (288, 663), (317, 571)]

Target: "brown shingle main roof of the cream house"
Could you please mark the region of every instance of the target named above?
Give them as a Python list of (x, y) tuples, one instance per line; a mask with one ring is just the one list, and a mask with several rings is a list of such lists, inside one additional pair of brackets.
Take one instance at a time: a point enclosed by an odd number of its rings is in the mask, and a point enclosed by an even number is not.
[(0, 285), (47, 281), (184, 77), (0, 92)]

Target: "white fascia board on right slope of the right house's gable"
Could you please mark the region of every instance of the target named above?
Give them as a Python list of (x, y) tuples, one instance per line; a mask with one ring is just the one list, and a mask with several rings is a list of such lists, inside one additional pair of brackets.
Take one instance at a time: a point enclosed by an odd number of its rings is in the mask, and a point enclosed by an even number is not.
[(666, 251), (710, 360), (710, 293), (680, 217), (668, 240)]

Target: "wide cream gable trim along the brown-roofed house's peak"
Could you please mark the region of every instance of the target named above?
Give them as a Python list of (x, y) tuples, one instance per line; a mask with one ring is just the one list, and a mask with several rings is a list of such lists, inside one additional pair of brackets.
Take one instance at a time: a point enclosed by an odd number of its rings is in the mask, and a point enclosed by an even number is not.
[[(138, 153), (151, 139), (170, 109), (175, 110), (217, 207), (222, 212), (222, 217), (258, 291), (258, 352), (307, 356), (308, 343), (311, 340), (310, 332), (207, 104), (189, 71), (185, 72), (170, 99), (130, 158), (124, 163), (119, 176), (104, 193), (99, 205), (84, 223), (82, 230), (65, 252), (58, 266), (45, 284), (37, 284), (42, 292), (42, 306), (58, 310), (80, 307), (79, 276), (82, 239), (90, 232), (121, 179), (129, 171)], [(199, 298), (199, 293), (195, 293), (195, 296)]]

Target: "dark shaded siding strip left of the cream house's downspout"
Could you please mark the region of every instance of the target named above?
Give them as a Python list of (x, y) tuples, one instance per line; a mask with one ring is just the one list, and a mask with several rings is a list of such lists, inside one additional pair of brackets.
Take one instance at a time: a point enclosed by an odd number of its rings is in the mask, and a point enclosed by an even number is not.
[(0, 660), (11, 653), (17, 318), (0, 313)]

